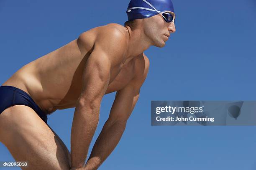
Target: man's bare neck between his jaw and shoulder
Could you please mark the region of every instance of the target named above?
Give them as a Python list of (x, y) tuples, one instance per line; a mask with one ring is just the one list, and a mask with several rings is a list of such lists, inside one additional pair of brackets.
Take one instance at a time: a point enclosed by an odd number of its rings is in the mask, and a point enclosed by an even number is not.
[(134, 58), (151, 46), (151, 43), (146, 38), (143, 28), (139, 27), (134, 30), (130, 26), (125, 25), (128, 36), (128, 51), (127, 57)]

